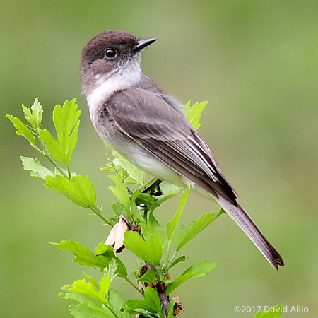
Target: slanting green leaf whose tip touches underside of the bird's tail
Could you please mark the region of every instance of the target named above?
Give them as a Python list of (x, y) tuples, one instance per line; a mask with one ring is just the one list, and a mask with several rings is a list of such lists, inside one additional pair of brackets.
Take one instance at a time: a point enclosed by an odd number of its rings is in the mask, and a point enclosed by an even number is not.
[(210, 225), (213, 220), (216, 220), (224, 211), (220, 210), (219, 212), (206, 213), (203, 214), (199, 220), (196, 220), (194, 223), (189, 225), (182, 225), (179, 230), (175, 232), (175, 247), (179, 251), (187, 242), (192, 240), (196, 235), (204, 230), (208, 225)]

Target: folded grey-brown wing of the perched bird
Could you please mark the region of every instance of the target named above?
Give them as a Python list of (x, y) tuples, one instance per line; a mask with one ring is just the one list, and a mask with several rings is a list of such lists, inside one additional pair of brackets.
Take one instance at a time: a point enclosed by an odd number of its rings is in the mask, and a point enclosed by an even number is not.
[(178, 107), (161, 94), (143, 88), (122, 90), (107, 102), (107, 110), (126, 135), (218, 198), (236, 203), (235, 193), (220, 172), (205, 141)]

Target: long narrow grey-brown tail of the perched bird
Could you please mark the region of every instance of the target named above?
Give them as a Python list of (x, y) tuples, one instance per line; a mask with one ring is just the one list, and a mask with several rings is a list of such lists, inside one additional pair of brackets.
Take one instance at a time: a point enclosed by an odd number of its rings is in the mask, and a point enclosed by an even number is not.
[(266, 240), (259, 228), (257, 228), (257, 225), (255, 225), (252, 218), (249, 217), (242, 206), (235, 206), (222, 196), (216, 199), (216, 201), (218, 204), (220, 204), (220, 206), (222, 206), (223, 210), (228, 213), (230, 218), (232, 218), (232, 220), (234, 220), (235, 223), (240, 226), (243, 232), (245, 232), (254, 245), (256, 245), (261, 254), (263, 254), (264, 257), (269, 261), (271, 266), (278, 271), (278, 265), (284, 265), (281, 255), (271, 246), (269, 241)]

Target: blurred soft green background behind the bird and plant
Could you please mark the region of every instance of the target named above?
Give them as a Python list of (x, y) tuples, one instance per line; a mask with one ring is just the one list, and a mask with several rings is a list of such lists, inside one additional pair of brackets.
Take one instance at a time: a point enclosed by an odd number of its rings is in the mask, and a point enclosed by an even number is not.
[[(182, 102), (208, 100), (200, 132), (285, 260), (276, 273), (222, 216), (189, 245), (184, 268), (202, 259), (218, 266), (176, 290), (180, 317), (252, 317), (233, 307), (278, 304), (309, 308), (283, 317), (318, 317), (317, 17), (315, 0), (1, 1), (0, 317), (70, 317), (57, 294), (83, 269), (49, 242), (73, 239), (93, 249), (109, 231), (23, 170), (19, 156), (37, 154), (4, 117), (22, 117), (21, 103), (39, 96), (52, 129), (54, 105), (77, 97), (82, 116), (71, 167), (90, 176), (98, 204), (110, 211), (110, 181), (100, 171), (105, 148), (78, 78), (81, 49), (109, 29), (158, 37), (143, 54), (144, 73)], [(177, 199), (166, 204), (158, 218), (167, 220), (176, 206)], [(217, 208), (192, 194), (182, 220)], [(121, 257), (136, 267), (129, 251)], [(134, 297), (122, 281), (115, 285)]]

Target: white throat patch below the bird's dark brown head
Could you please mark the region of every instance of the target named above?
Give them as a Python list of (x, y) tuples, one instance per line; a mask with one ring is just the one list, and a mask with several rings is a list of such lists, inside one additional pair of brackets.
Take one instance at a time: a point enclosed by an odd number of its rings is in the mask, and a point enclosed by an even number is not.
[(127, 64), (106, 75), (96, 75), (96, 88), (86, 96), (90, 117), (97, 112), (100, 103), (110, 98), (117, 90), (136, 85), (141, 79), (141, 56), (136, 55)]

